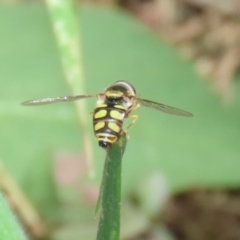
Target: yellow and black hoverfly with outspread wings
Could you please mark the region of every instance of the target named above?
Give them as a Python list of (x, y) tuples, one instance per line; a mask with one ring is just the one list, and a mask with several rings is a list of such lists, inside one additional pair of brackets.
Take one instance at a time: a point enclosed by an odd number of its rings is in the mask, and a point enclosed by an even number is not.
[[(138, 98), (135, 88), (127, 81), (117, 81), (107, 87), (103, 93), (91, 95), (77, 95), (64, 97), (47, 97), (23, 102), (25, 106), (45, 105), (56, 102), (69, 102), (85, 98), (96, 97), (97, 106), (92, 113), (93, 129), (95, 137), (100, 147), (104, 149), (111, 148), (121, 136), (123, 131), (127, 131), (138, 119), (137, 115), (131, 115), (132, 111), (138, 107), (151, 107), (156, 110), (184, 117), (193, 115), (184, 110), (164, 105), (162, 103)], [(123, 130), (123, 121), (125, 118), (132, 118), (132, 122)]]

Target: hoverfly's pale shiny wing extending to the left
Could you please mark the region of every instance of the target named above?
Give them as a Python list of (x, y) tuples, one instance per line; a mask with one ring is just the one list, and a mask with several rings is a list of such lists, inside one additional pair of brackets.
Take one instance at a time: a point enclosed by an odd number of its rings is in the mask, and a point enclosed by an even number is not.
[(47, 97), (40, 99), (33, 99), (29, 101), (22, 102), (21, 104), (24, 106), (36, 106), (36, 105), (46, 105), (57, 102), (70, 102), (76, 101), (84, 98), (97, 97), (97, 95), (77, 95), (77, 96), (64, 96), (64, 97)]

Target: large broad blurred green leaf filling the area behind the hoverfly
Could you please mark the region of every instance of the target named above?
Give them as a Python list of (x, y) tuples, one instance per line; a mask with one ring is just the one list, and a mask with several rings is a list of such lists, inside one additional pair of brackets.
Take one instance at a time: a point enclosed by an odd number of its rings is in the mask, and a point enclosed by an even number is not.
[[(194, 114), (187, 119), (138, 110), (123, 162), (123, 191), (155, 170), (165, 175), (172, 190), (195, 184), (239, 186), (239, 103), (224, 106), (192, 64), (124, 13), (83, 7), (80, 18), (88, 93), (125, 79), (141, 97)], [(81, 131), (71, 103), (20, 106), (31, 98), (70, 94), (46, 9), (37, 4), (1, 6), (0, 21), (0, 157), (24, 183), (39, 150), (80, 150)], [(94, 101), (89, 100), (89, 112)], [(94, 155), (100, 179), (104, 151), (97, 143)], [(46, 191), (43, 183), (38, 184), (41, 193)], [(30, 188), (26, 191), (31, 195)]]

